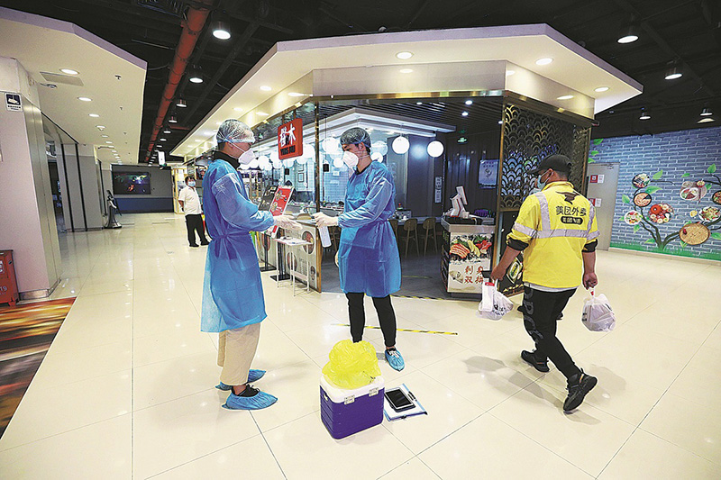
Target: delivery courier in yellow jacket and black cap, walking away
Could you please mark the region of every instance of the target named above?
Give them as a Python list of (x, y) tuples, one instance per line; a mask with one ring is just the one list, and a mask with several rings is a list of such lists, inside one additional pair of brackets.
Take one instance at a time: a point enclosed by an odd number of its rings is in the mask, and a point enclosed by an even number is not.
[(529, 175), (537, 177), (540, 192), (528, 195), (507, 236), (507, 248), (491, 278), (506, 274), (516, 256), (524, 252), (524, 325), (535, 350), (521, 358), (541, 372), (551, 359), (568, 379), (569, 395), (563, 410), (583, 402), (597, 379), (583, 372), (556, 338), (556, 322), (579, 285), (598, 283), (594, 271), (598, 227), (589, 199), (573, 189), (568, 178), (570, 160), (564, 155), (543, 158)]

